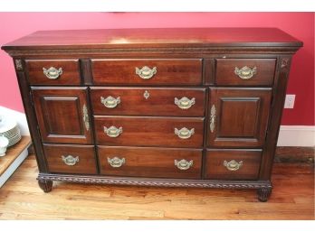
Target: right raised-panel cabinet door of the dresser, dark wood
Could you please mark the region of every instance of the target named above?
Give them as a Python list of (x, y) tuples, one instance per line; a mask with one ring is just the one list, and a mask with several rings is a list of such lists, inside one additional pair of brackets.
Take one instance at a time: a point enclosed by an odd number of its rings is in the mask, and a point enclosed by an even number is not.
[(208, 145), (261, 147), (272, 88), (210, 88)]

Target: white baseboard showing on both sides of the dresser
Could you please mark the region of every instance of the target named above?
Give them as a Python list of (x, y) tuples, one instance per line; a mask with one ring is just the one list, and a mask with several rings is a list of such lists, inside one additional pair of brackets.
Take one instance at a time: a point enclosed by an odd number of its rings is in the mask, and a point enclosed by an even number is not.
[[(24, 113), (0, 107), (0, 114), (13, 116), (21, 128), (22, 135), (30, 135)], [(278, 146), (315, 146), (315, 125), (282, 125)]]

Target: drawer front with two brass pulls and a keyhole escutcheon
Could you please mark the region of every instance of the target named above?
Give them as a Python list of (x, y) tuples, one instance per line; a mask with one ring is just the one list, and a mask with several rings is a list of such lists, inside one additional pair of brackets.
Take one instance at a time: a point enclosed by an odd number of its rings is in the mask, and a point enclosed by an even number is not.
[(204, 116), (205, 88), (91, 88), (95, 115)]

